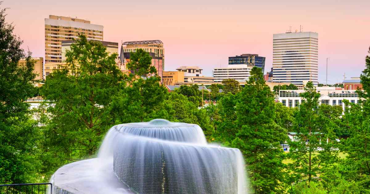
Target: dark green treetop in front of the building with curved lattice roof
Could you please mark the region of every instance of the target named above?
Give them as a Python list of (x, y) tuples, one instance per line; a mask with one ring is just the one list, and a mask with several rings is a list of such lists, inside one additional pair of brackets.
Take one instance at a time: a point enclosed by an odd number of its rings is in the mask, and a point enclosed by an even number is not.
[(155, 74), (157, 70), (152, 64), (152, 57), (142, 48), (136, 52), (130, 52), (130, 61), (127, 63), (127, 68), (131, 70), (132, 75), (145, 76)]

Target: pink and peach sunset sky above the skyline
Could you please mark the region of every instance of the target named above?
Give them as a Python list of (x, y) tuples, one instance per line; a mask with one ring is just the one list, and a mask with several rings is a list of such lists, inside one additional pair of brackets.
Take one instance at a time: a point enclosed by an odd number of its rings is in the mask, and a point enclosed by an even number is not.
[[(369, 0), (3, 0), (7, 22), (34, 57), (44, 57), (44, 18), (71, 16), (104, 25), (104, 41), (164, 42), (165, 70), (198, 65), (205, 75), (244, 53), (266, 57), (272, 67), (272, 34), (293, 30), (319, 33), (319, 83), (359, 76), (370, 46)], [(77, 2), (78, 3), (75, 3)]]

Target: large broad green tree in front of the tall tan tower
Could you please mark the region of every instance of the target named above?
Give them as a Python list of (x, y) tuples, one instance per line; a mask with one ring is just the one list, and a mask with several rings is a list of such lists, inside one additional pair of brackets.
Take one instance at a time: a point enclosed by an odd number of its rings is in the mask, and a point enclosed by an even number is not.
[(68, 161), (93, 156), (113, 122), (110, 117), (112, 97), (122, 80), (117, 68), (117, 54), (109, 55), (98, 41), (79, 35), (67, 51), (66, 69), (53, 71), (41, 88), (51, 120), (46, 142), (51, 156), (60, 166)]

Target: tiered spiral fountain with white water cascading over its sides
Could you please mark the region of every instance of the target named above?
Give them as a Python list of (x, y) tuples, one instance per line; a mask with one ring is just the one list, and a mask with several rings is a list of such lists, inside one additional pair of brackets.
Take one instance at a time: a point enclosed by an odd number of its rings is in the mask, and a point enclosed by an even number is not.
[(238, 149), (207, 144), (201, 127), (164, 119), (113, 126), (94, 159), (51, 177), (56, 194), (245, 194)]

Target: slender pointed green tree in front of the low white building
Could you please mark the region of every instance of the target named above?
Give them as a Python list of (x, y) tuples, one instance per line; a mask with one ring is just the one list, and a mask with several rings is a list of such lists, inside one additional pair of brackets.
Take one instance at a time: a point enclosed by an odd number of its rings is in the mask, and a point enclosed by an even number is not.
[[(334, 134), (335, 120), (333, 115), (325, 114), (323, 105), (319, 107), (320, 94), (316, 92), (312, 82), (305, 86), (305, 92), (301, 93), (303, 98), (295, 117), (293, 130), (296, 132), (295, 140), (289, 141), (290, 151), (288, 158), (294, 162), (289, 164), (291, 182), (307, 180), (317, 181), (323, 167), (336, 162), (338, 151), (335, 149)], [(328, 140), (331, 140), (327, 142)]]

